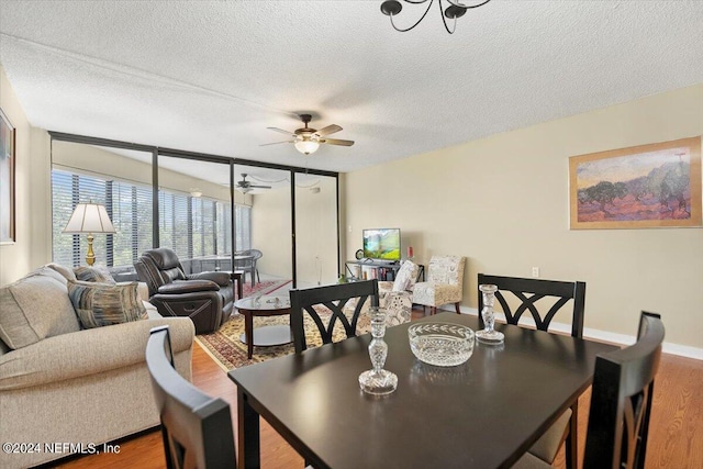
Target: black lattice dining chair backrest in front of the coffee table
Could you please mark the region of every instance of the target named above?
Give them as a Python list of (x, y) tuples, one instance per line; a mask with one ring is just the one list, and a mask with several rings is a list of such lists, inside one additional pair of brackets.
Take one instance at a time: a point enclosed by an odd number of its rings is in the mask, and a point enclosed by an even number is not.
[[(367, 301), (370, 301), (371, 306), (378, 306), (377, 279), (291, 290), (290, 327), (293, 333), (295, 353), (299, 354), (308, 348), (304, 327), (305, 313), (312, 317), (317, 326), (322, 343), (330, 344), (337, 321), (344, 326), (347, 337), (356, 335), (357, 321)], [(354, 305), (350, 317), (345, 314), (347, 305)], [(328, 319), (326, 319), (327, 314), (321, 314), (322, 311), (330, 313)]]

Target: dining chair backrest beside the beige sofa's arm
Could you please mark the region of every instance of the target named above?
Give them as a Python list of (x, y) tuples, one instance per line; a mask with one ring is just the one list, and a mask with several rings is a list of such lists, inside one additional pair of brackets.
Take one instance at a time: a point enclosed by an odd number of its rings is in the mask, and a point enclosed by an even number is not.
[(230, 404), (202, 393), (176, 371), (168, 326), (152, 330), (146, 365), (161, 420), (166, 467), (235, 467)]

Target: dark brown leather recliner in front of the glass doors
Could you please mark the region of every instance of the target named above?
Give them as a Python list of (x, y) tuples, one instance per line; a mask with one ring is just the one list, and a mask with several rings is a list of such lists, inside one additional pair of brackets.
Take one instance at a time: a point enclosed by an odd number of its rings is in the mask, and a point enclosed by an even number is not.
[(228, 272), (187, 276), (176, 253), (166, 247), (144, 252), (134, 267), (163, 316), (190, 317), (196, 334), (216, 331), (230, 319), (234, 289)]

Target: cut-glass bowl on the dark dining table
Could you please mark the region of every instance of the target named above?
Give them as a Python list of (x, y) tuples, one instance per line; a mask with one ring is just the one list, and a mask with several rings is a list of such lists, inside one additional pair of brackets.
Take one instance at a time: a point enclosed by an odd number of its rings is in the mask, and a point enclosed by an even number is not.
[(475, 333), (460, 324), (416, 323), (408, 328), (410, 349), (425, 364), (461, 365), (473, 354)]

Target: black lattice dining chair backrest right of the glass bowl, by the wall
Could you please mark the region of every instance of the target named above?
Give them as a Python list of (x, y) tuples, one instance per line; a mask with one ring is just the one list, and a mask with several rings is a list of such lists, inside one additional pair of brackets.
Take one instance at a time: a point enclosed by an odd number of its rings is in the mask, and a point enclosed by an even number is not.
[[(535, 326), (539, 331), (547, 331), (554, 316), (562, 310), (563, 306), (573, 300), (571, 310), (571, 336), (583, 336), (583, 314), (585, 309), (585, 283), (581, 281), (557, 281), (543, 279), (525, 279), (518, 277), (500, 277), (489, 276), (484, 273), (478, 275), (478, 284), (494, 284), (498, 287), (495, 299), (501, 304), (505, 321), (509, 324), (517, 324), (521, 316), (526, 311), (529, 312)], [(509, 303), (512, 293), (517, 299), (517, 308), (513, 311)], [(554, 301), (546, 312), (540, 312), (535, 304), (537, 301)], [(545, 308), (546, 309), (546, 308)], [(479, 290), (479, 323), (483, 327), (483, 319), (481, 311), (483, 310), (483, 298)]]

